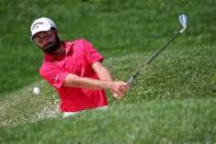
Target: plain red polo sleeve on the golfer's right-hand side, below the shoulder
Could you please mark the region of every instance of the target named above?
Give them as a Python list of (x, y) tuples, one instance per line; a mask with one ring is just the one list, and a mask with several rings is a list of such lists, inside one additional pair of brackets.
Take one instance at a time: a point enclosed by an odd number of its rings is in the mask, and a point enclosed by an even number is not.
[(83, 40), (82, 43), (86, 49), (87, 60), (90, 65), (94, 64), (95, 62), (103, 62), (104, 57), (93, 47), (92, 44), (86, 40)]

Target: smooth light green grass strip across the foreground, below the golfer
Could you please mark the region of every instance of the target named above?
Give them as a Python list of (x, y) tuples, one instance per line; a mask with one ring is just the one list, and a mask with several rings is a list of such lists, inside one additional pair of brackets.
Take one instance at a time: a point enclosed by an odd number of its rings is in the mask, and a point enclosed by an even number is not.
[(214, 143), (215, 98), (139, 101), (0, 130), (8, 143)]

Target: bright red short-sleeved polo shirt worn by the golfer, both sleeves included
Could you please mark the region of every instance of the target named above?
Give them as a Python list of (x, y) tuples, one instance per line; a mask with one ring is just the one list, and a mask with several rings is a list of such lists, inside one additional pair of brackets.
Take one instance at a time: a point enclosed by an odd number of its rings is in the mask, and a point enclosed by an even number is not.
[(41, 76), (57, 89), (60, 96), (60, 110), (77, 112), (107, 106), (104, 90), (62, 86), (68, 74), (99, 79), (91, 66), (95, 62), (102, 62), (103, 56), (86, 40), (62, 43), (66, 53), (57, 56), (45, 54), (39, 69)]

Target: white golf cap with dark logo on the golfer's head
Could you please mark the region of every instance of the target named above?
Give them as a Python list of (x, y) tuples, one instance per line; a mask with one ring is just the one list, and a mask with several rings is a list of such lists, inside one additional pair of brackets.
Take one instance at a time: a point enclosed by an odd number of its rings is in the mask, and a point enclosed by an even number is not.
[(52, 27), (57, 29), (56, 24), (48, 18), (39, 18), (34, 20), (34, 22), (31, 25), (31, 40), (33, 40), (36, 33), (49, 31)]

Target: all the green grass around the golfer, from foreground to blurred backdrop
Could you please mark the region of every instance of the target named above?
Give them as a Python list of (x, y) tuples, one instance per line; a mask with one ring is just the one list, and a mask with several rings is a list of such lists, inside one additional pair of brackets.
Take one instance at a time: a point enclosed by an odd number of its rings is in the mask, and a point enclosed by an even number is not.
[[(1, 0), (0, 143), (215, 143), (215, 4)], [(115, 79), (127, 80), (174, 35), (182, 12), (190, 16), (186, 33), (140, 74), (124, 99), (106, 112), (61, 118), (56, 91), (38, 76), (43, 53), (30, 42), (35, 18), (54, 19), (64, 40), (88, 38)]]

